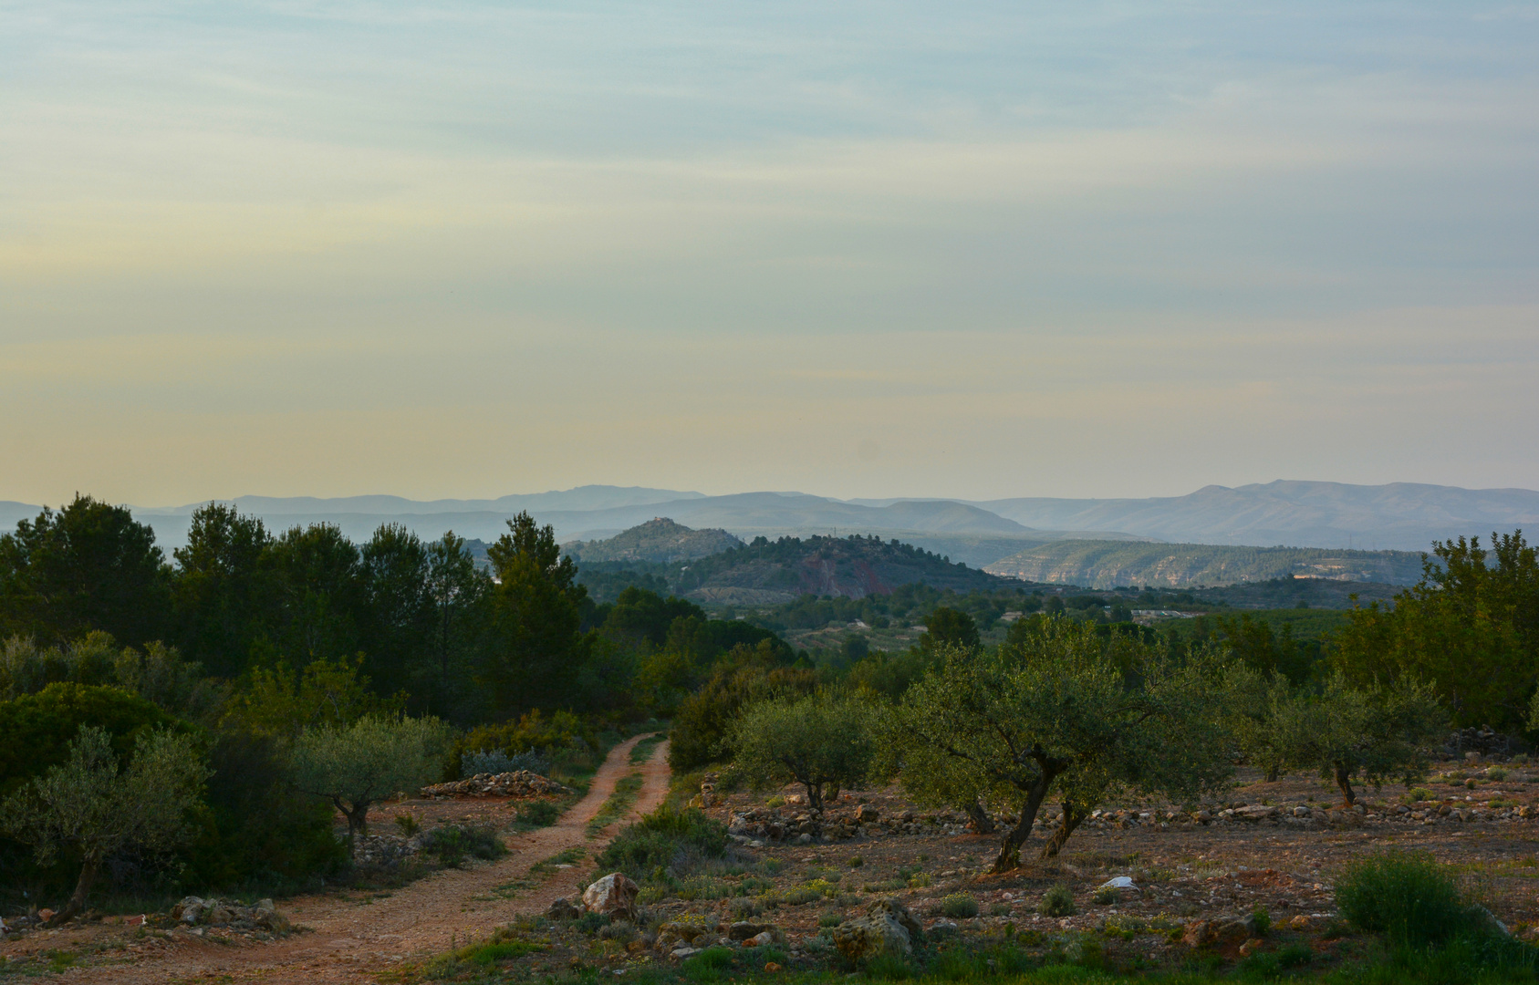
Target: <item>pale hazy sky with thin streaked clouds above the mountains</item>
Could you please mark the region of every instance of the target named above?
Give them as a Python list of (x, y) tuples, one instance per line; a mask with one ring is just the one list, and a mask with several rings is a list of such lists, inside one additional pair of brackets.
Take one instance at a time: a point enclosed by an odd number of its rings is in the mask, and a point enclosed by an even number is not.
[(1539, 3), (0, 0), (0, 499), (1539, 488)]

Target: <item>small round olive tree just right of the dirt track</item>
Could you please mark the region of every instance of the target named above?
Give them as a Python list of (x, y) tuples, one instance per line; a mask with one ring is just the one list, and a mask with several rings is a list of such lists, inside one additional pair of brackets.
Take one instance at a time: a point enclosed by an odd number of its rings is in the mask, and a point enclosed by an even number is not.
[(873, 705), (862, 697), (808, 694), (745, 708), (728, 726), (736, 765), (756, 786), (797, 782), (814, 811), (863, 780), (873, 762)]

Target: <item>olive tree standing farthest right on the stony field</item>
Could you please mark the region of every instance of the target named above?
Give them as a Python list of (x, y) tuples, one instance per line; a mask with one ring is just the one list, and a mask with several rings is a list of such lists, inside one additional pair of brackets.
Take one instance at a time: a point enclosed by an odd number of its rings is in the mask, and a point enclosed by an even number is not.
[(1447, 730), (1448, 713), (1419, 680), (1353, 686), (1337, 671), (1319, 693), (1270, 688), (1264, 726), (1276, 756), (1293, 768), (1319, 770), (1351, 806), (1359, 774), (1376, 788), (1425, 774), (1424, 746)]

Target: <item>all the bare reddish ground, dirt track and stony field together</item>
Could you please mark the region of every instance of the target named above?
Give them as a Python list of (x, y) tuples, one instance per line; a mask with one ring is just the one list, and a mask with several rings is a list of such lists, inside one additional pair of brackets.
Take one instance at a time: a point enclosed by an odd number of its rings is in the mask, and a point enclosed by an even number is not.
[[(609, 757), (556, 828), (509, 837), (516, 854), (503, 862), (392, 893), (280, 902), (308, 931), (209, 930), (231, 937), (212, 945), (188, 928), (103, 922), (43, 931), (0, 953), (37, 971), (49, 960), (62, 971), (85, 963), (71, 980), (112, 982), (166, 980), (169, 971), (237, 982), (491, 973), (540, 980), (640, 968), (689, 977), (691, 962), (703, 960), (723, 974), (779, 974), (848, 968), (842, 950), (911, 920), (917, 957), (931, 963), (963, 953), (1007, 965), (1011, 954), (1059, 953), (1134, 970), (1271, 954), (1327, 968), (1371, 947), (1337, 920), (1333, 879), (1347, 862), (1387, 848), (1456, 865), (1514, 934), (1533, 937), (1539, 925), (1539, 768), (1462, 759), (1439, 763), (1410, 790), (1362, 791), (1357, 810), (1342, 810), (1334, 786), (1316, 777), (1268, 783), (1242, 771), (1210, 803), (1108, 803), (1060, 857), (1040, 860), (1034, 850), (1056, 823), (1048, 816), (1027, 845), (1027, 863), (1003, 874), (988, 871), (997, 836), (976, 833), (960, 813), (923, 810), (896, 786), (846, 793), (817, 819), (793, 788), (723, 793), (708, 780), (699, 802), (734, 833), (728, 856), (680, 859), (677, 879), (646, 880), (634, 913), (613, 919), (583, 913), (576, 890), (603, 874), (591, 868), (602, 837), (588, 837), (583, 825), (633, 770), (626, 753)], [(665, 754), (662, 746), (648, 762), (637, 810), (654, 806), (666, 788)], [(396, 813), (423, 825), (499, 817), (506, 825), (511, 808), (496, 799), (412, 800), (371, 823), (388, 830)], [(1054, 908), (1053, 894), (1067, 899)], [(560, 897), (569, 902), (553, 913)]]

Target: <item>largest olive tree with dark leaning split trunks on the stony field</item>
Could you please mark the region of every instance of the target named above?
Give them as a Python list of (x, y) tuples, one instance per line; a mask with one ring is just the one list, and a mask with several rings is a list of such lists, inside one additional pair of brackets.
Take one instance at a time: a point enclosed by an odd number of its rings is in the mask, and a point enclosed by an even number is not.
[(883, 748), (922, 803), (968, 810), (982, 797), (1019, 811), (994, 860), (1005, 871), (1020, 865), (1048, 797), (1063, 820), (1043, 856), (1117, 786), (1191, 797), (1227, 779), (1220, 697), (1207, 651), (1176, 659), (1137, 636), (1051, 617), (997, 653), (950, 651), (910, 688)]

